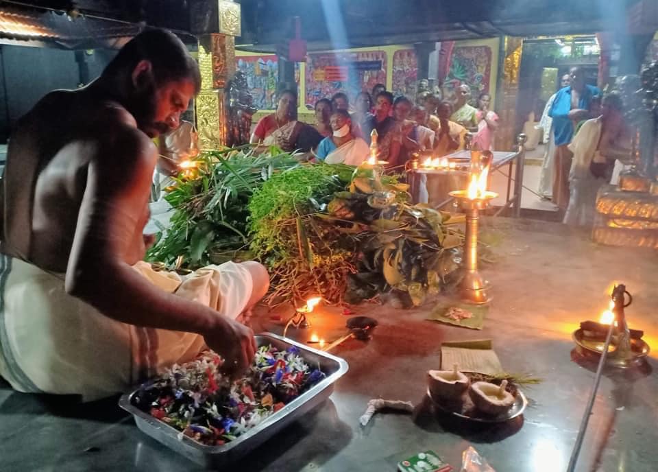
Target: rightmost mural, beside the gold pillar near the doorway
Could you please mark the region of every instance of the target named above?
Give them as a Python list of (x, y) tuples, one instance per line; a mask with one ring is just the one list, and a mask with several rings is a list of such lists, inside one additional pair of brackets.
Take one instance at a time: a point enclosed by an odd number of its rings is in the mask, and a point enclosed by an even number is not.
[(456, 46), (452, 50), (450, 71), (443, 82), (443, 98), (456, 100), (456, 89), (461, 84), (471, 87), (471, 104), (476, 105), (480, 93), (489, 91), (491, 77), (491, 47)]

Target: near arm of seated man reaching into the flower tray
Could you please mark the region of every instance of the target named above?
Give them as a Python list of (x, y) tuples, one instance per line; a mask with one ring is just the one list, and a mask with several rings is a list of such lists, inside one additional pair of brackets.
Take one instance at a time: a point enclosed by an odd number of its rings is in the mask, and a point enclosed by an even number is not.
[(256, 349), (250, 329), (159, 290), (126, 263), (143, 229), (155, 160), (153, 143), (134, 128), (126, 126), (110, 143), (99, 143), (88, 167), (66, 292), (114, 320), (204, 335), (231, 366), (245, 368)]

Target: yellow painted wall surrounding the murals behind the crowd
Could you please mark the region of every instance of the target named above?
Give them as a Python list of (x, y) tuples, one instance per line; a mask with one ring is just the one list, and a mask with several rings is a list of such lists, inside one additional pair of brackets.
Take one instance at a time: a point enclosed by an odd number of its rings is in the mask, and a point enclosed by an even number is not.
[[(477, 40), (463, 40), (456, 41), (455, 47), (459, 46), (489, 46), (491, 48), (491, 75), (489, 76), (489, 93), (491, 93), (491, 103), (496, 103), (496, 80), (498, 78), (498, 47), (499, 47), (498, 38), (491, 39), (477, 39)], [(413, 45), (388, 45), (388, 46), (374, 46), (374, 47), (356, 47), (354, 49), (336, 49), (332, 51), (313, 51), (315, 52), (359, 52), (359, 51), (384, 51), (386, 54), (386, 88), (391, 90), (393, 88), (393, 54), (398, 49), (413, 49)], [(265, 56), (264, 53), (253, 53), (248, 51), (235, 51), (237, 57), (240, 56)], [(299, 96), (306, 96), (306, 62), (300, 63), (300, 88)], [(303, 103), (299, 104), (297, 111), (300, 115), (300, 119), (303, 121), (313, 121), (313, 112), (306, 110), (306, 107)], [(254, 121), (260, 119), (260, 117), (271, 113), (271, 110), (259, 110), (256, 115), (254, 115)]]

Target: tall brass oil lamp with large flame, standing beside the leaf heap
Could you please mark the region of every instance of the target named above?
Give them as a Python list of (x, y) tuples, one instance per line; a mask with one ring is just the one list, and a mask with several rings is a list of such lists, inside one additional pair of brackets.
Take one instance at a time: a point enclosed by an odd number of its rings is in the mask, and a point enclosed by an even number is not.
[(466, 213), (466, 235), (464, 260), (466, 274), (461, 283), (461, 299), (467, 303), (484, 305), (491, 301), (487, 294), (489, 282), (478, 272), (478, 228), (480, 210), (489, 208), (489, 203), (498, 193), (487, 191), (487, 178), (491, 167), (489, 154), (480, 158), (479, 153), (471, 154), (470, 179), (467, 190), (451, 191), (457, 205)]

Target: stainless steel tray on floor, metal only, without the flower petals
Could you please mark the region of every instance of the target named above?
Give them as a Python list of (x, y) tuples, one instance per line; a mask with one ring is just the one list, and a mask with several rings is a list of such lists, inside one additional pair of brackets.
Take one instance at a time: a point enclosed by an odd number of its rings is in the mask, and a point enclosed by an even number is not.
[(277, 349), (287, 349), (291, 346), (296, 346), (300, 349), (300, 355), (304, 360), (310, 365), (319, 365), (320, 370), (326, 374), (326, 377), (288, 403), (284, 408), (272, 414), (265, 421), (249, 429), (245, 434), (239, 436), (236, 440), (232, 440), (230, 443), (221, 446), (208, 446), (197, 443), (197, 441), (187, 436), (183, 436), (182, 440), (179, 440), (178, 434), (180, 432), (178, 429), (154, 418), (132, 404), (132, 397), (137, 390), (123, 395), (119, 400), (119, 406), (132, 414), (137, 427), (151, 436), (151, 438), (197, 462), (197, 464), (213, 469), (234, 462), (245, 453), (264, 443), (293, 421), (299, 419), (306, 412), (313, 410), (317, 405), (323, 403), (333, 392), (334, 382), (348, 371), (348, 363), (344, 359), (323, 351), (311, 349), (308, 346), (304, 346), (304, 344), (282, 338), (273, 333), (256, 335), (256, 343), (258, 346), (271, 345)]

